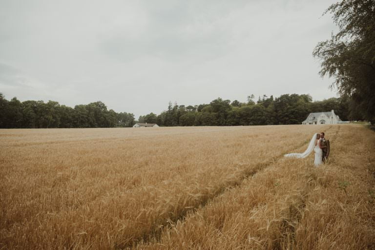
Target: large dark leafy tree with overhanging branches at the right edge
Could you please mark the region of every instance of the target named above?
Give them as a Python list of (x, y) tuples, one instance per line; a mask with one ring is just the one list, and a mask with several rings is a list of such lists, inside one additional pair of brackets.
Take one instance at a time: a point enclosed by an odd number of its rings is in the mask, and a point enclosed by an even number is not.
[(313, 56), (322, 60), (320, 75), (335, 78), (341, 97), (349, 98), (351, 116), (375, 121), (375, 0), (343, 0), (333, 14), (339, 32), (319, 42)]

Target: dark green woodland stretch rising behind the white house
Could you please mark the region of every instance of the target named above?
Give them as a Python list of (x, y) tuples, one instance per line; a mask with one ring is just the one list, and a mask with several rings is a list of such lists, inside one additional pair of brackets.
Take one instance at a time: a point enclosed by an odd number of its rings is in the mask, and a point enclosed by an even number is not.
[(246, 103), (217, 98), (209, 104), (178, 105), (169, 102), (167, 110), (139, 117), (139, 122), (162, 126), (232, 126), (232, 125), (288, 125), (301, 124), (309, 113), (334, 110), (342, 120), (349, 116), (361, 120), (360, 114), (350, 111), (351, 102), (342, 98), (330, 98), (312, 102), (310, 95), (285, 94), (273, 98), (263, 95), (254, 101), (254, 95)]

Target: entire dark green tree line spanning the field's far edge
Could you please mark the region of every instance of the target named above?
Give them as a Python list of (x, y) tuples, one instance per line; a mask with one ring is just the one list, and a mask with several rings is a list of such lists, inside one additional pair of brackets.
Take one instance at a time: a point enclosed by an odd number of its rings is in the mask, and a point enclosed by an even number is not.
[(332, 109), (342, 120), (361, 120), (350, 105), (342, 98), (312, 102), (310, 95), (298, 94), (263, 95), (255, 102), (254, 95), (249, 95), (245, 103), (222, 98), (194, 106), (169, 102), (159, 115), (149, 113), (136, 121), (134, 114), (108, 110), (100, 101), (72, 108), (54, 101), (20, 102), (16, 97), (8, 101), (0, 93), (0, 128), (131, 127), (137, 122), (160, 126), (287, 125), (301, 124), (311, 112)]

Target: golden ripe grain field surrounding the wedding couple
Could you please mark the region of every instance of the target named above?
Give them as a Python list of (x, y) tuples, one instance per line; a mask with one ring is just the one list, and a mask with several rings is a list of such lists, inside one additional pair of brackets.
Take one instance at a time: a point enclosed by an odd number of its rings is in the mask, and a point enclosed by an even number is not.
[[(303, 152), (331, 141), (330, 162)], [(2, 249), (375, 249), (362, 125), (0, 130)]]

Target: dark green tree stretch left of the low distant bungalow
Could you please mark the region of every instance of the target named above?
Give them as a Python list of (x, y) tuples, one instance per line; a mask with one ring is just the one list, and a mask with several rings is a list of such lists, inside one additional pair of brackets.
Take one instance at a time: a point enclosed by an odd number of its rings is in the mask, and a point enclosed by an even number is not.
[(134, 114), (108, 110), (102, 102), (76, 105), (58, 102), (6, 100), (0, 93), (0, 128), (131, 127)]

